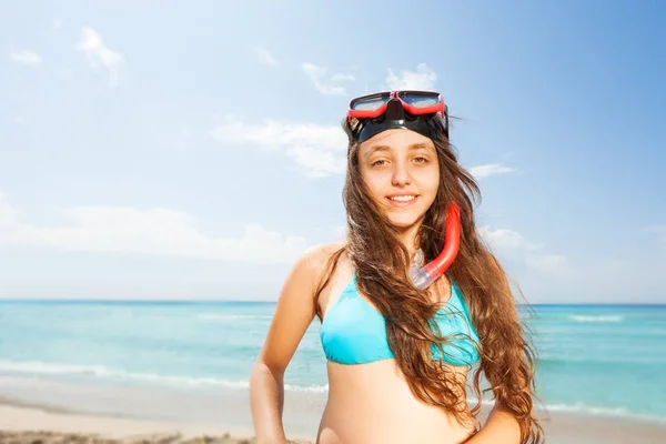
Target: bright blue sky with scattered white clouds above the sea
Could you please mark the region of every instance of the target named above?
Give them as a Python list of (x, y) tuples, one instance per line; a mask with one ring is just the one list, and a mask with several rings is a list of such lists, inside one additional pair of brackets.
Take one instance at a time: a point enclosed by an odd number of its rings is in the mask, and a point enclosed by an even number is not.
[(275, 300), (349, 100), (441, 91), (533, 303), (666, 302), (657, 1), (0, 7), (0, 297)]

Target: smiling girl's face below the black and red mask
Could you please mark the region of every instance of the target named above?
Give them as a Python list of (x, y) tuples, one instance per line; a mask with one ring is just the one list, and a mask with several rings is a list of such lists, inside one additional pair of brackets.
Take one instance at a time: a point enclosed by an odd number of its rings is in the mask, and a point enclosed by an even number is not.
[(357, 155), (371, 198), (391, 223), (403, 231), (420, 225), (440, 186), (433, 141), (411, 130), (386, 130), (363, 142)]

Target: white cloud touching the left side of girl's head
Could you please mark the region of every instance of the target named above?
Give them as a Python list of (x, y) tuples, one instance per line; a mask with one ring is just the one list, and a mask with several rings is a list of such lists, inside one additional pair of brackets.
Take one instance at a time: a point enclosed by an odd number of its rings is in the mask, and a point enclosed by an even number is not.
[(274, 120), (253, 124), (228, 117), (211, 134), (220, 143), (278, 151), (312, 178), (340, 174), (346, 168), (347, 140), (340, 127)]

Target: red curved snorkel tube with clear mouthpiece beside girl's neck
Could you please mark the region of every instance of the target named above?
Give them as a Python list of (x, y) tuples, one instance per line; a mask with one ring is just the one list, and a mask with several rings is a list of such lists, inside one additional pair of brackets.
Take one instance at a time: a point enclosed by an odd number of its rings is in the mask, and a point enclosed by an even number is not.
[(453, 260), (457, 255), (461, 246), (461, 209), (455, 203), (448, 205), (446, 213), (446, 233), (444, 235), (444, 248), (437, 258), (425, 266), (423, 262), (423, 251), (416, 252), (415, 262), (410, 268), (410, 279), (414, 286), (420, 290), (427, 289), (442, 274), (448, 270)]

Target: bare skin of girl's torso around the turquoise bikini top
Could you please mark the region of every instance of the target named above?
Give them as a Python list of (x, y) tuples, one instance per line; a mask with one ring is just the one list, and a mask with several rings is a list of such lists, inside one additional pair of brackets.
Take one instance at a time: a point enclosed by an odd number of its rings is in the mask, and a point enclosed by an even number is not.
[[(343, 254), (317, 301), (324, 320), (353, 273), (353, 265)], [(437, 281), (432, 293), (443, 302), (451, 297), (445, 276)], [(457, 444), (475, 431), (471, 416), (467, 424), (461, 425), (453, 414), (416, 398), (394, 359), (356, 365), (329, 361), (326, 367), (329, 400), (317, 444)], [(451, 369), (466, 379), (467, 367)], [(466, 404), (464, 393), (461, 402)]]

